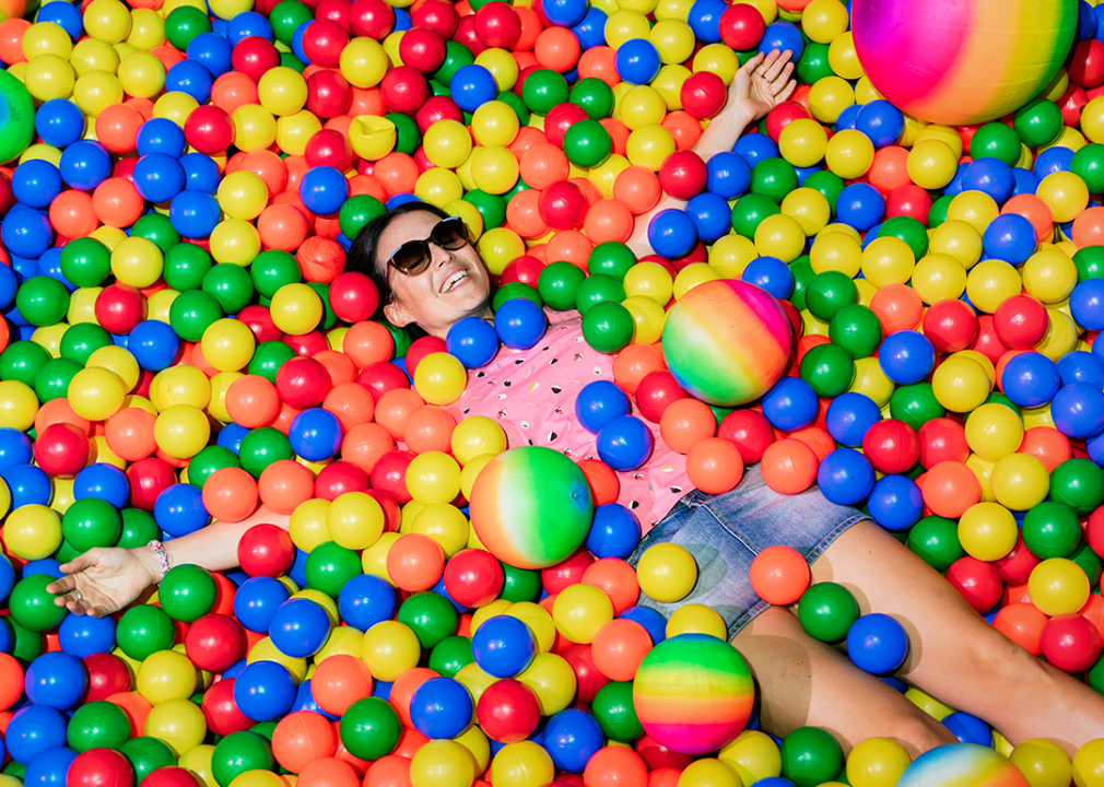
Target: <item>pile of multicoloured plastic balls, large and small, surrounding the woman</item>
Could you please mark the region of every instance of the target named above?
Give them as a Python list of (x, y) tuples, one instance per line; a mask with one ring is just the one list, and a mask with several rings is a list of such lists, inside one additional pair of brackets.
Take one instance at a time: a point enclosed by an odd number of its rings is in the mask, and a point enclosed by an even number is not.
[[(689, 553), (626, 562), (650, 422), (704, 491), (758, 464), (862, 508), (1104, 692), (1104, 7), (937, 6), (2, 0), (0, 787), (1104, 784), (1104, 742), (1013, 748), (889, 677), (963, 744), (772, 738), (721, 617), (637, 604)], [(702, 160), (773, 50), (799, 87)], [(415, 200), (492, 323), (412, 341), (344, 269)], [(447, 408), (545, 308), (616, 353), (599, 459)], [(241, 571), (103, 618), (45, 589), (262, 503), (290, 528)], [(890, 676), (901, 626), (795, 554), (760, 596)]]

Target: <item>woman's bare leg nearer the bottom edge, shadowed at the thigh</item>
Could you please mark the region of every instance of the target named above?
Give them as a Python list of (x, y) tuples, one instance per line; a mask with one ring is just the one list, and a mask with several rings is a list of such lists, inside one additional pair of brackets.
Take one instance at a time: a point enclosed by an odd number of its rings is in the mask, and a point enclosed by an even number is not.
[(845, 753), (869, 737), (894, 738), (915, 757), (955, 736), (846, 656), (809, 637), (786, 609), (772, 607), (732, 640), (755, 676), (763, 726), (829, 732)]

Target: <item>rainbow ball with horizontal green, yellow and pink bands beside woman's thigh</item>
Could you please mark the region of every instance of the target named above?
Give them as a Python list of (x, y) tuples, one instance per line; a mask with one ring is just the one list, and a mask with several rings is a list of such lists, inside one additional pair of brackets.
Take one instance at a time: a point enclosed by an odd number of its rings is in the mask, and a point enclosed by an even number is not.
[(715, 752), (747, 723), (755, 685), (723, 639), (680, 634), (652, 648), (636, 671), (633, 705), (646, 733), (680, 754)]

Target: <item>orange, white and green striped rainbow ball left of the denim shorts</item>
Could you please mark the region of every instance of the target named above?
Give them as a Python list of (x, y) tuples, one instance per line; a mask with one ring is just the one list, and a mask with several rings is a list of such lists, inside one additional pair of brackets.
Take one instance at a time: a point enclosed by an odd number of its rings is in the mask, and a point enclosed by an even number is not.
[(591, 530), (591, 488), (578, 465), (540, 446), (499, 454), (471, 487), (471, 527), (487, 550), (517, 568), (546, 568)]

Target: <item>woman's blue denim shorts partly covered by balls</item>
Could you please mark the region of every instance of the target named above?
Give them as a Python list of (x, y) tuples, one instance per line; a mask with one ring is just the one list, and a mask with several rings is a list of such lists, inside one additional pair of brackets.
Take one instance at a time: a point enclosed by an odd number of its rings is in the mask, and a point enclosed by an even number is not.
[(684, 604), (716, 610), (732, 639), (771, 605), (755, 595), (752, 560), (767, 546), (790, 546), (813, 565), (848, 528), (868, 519), (858, 509), (829, 502), (817, 487), (800, 494), (781, 494), (763, 481), (758, 466), (749, 468), (730, 492), (692, 490), (651, 529), (629, 556), (634, 567), (655, 544), (684, 547), (698, 563), (698, 583), (686, 598), (661, 604), (640, 594), (641, 606), (666, 617)]

